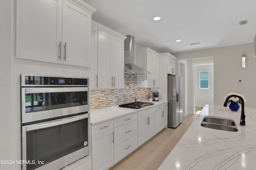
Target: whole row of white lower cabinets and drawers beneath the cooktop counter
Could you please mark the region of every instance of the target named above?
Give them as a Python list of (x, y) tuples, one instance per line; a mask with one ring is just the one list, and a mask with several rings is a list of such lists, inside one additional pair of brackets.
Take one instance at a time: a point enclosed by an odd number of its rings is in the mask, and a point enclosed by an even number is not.
[(106, 170), (167, 126), (167, 103), (92, 125), (92, 170)]

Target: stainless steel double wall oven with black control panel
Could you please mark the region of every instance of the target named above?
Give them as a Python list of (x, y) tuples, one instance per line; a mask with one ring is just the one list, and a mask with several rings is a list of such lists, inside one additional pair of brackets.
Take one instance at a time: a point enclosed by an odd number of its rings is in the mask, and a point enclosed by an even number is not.
[(58, 170), (90, 154), (88, 84), (88, 78), (21, 75), (23, 170)]

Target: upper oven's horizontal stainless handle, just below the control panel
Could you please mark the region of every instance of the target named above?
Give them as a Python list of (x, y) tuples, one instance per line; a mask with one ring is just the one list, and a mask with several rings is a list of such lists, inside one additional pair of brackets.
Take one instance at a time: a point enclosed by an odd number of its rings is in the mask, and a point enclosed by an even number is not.
[(25, 88), (26, 93), (84, 92), (88, 87)]

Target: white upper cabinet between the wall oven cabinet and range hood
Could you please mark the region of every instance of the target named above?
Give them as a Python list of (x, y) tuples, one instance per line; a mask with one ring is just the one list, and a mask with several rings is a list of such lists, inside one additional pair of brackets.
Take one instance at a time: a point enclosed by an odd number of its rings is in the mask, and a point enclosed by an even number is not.
[(126, 36), (92, 21), (91, 89), (124, 88), (124, 39)]

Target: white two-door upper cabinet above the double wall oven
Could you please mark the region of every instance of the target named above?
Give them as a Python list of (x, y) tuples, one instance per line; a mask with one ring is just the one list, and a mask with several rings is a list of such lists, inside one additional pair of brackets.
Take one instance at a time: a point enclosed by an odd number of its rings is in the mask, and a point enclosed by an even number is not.
[(82, 0), (18, 0), (16, 57), (90, 67), (95, 11)]

